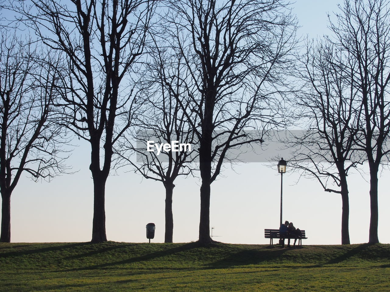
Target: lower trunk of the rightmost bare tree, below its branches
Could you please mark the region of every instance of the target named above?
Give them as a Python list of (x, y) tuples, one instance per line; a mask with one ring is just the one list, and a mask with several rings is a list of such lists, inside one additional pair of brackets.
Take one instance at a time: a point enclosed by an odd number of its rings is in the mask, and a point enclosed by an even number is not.
[(378, 239), (378, 171), (370, 167), (370, 233), (369, 243), (379, 243)]

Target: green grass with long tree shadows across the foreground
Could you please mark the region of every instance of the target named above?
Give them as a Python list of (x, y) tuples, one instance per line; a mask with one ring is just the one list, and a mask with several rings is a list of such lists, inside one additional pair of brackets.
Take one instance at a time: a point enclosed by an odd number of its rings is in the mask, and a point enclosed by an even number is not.
[(0, 291), (390, 291), (390, 245), (0, 243)]

